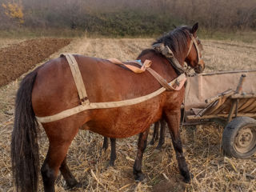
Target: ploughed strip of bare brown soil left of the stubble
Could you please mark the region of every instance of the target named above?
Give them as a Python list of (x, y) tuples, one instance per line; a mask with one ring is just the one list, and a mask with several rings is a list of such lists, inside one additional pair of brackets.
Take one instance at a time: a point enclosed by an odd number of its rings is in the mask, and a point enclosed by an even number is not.
[(14, 81), (69, 43), (70, 39), (39, 38), (0, 48), (0, 86)]

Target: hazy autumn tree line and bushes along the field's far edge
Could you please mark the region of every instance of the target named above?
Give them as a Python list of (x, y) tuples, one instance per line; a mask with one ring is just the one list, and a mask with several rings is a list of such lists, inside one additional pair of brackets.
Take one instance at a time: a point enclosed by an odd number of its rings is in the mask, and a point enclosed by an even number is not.
[(149, 35), (194, 22), (210, 33), (256, 30), (256, 0), (0, 0), (0, 30)]

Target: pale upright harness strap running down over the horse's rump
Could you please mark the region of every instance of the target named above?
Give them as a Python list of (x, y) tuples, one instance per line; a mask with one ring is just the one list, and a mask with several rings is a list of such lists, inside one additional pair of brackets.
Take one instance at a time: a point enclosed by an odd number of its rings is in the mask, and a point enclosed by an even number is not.
[[(82, 105), (89, 104), (89, 99), (86, 93), (86, 86), (82, 81), (82, 75), (79, 70), (78, 62), (75, 60), (72, 54), (62, 54), (66, 57), (67, 62), (69, 63), (71, 73), (74, 78), (75, 85), (78, 89), (78, 95)], [(62, 56), (61, 55), (61, 56)]]

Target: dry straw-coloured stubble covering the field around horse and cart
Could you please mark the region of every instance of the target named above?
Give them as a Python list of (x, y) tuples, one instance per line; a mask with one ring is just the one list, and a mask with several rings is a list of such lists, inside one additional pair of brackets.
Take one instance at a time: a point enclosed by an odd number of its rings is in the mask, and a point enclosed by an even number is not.
[[(145, 38), (77, 38), (50, 58), (56, 58), (62, 52), (70, 52), (99, 58), (134, 59), (152, 41)], [(205, 45), (206, 71), (256, 68), (256, 43), (213, 40), (204, 40), (202, 43)], [(0, 88), (0, 191), (14, 190), (10, 170), (10, 134), (17, 89), (18, 81)], [(40, 158), (43, 161), (48, 142), (44, 131), (41, 129), (40, 132)], [(70, 146), (67, 160), (70, 170), (83, 186), (72, 191), (255, 191), (255, 155), (246, 160), (225, 158), (222, 155), (221, 138), (222, 127), (218, 125), (182, 128), (186, 160), (194, 174), (191, 184), (182, 182), (168, 135), (161, 151), (154, 150), (155, 146), (146, 148), (142, 166), (146, 182), (134, 182), (132, 167), (138, 136), (118, 139), (118, 158), (116, 166), (112, 168), (107, 167), (110, 150), (102, 155), (100, 153), (102, 136), (80, 131)], [(39, 189), (42, 191), (41, 180)], [(55, 189), (65, 190), (61, 176), (57, 179)]]

